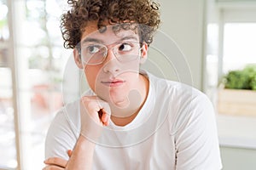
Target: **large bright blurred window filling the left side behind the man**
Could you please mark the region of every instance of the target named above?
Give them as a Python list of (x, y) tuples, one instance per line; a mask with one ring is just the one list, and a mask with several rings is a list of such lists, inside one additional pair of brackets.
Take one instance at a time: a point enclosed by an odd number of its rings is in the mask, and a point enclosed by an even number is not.
[(63, 48), (61, 3), (0, 0), (0, 169), (44, 167), (45, 135), (63, 105), (61, 82), (72, 57)]

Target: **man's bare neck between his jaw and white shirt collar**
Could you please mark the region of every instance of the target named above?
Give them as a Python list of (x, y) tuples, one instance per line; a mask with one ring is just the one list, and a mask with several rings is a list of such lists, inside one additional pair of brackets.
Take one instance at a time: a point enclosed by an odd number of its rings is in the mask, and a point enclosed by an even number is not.
[[(137, 93), (131, 93), (131, 95), (128, 97), (130, 101), (130, 105), (128, 107), (124, 109), (110, 105), (112, 111), (111, 120), (115, 125), (125, 126), (129, 124), (135, 119), (139, 111), (143, 108), (148, 96), (148, 78), (140, 75), (140, 82), (138, 84), (140, 84), (140, 86), (137, 88), (138, 92), (140, 92), (140, 96), (137, 96)], [(139, 99), (139, 101), (137, 99)]]

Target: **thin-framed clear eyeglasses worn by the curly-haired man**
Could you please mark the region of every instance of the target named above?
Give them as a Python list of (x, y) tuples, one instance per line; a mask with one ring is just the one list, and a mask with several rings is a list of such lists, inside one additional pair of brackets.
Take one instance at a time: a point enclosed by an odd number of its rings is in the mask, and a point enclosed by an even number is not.
[(108, 48), (104, 44), (88, 42), (81, 45), (79, 54), (84, 64), (100, 65), (107, 58), (108, 50), (111, 49), (116, 59), (125, 63), (138, 58), (141, 50), (140, 44), (139, 42), (115, 42), (108, 45), (108, 47), (113, 46), (112, 48)]

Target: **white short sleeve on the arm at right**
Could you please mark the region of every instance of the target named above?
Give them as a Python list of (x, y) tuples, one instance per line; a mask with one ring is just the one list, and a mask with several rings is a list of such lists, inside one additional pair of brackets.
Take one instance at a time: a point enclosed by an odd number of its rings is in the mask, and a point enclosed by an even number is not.
[[(217, 170), (222, 168), (215, 113), (211, 101), (199, 94), (184, 102), (178, 114), (182, 123), (176, 125), (176, 169)], [(189, 108), (189, 109), (188, 109)]]

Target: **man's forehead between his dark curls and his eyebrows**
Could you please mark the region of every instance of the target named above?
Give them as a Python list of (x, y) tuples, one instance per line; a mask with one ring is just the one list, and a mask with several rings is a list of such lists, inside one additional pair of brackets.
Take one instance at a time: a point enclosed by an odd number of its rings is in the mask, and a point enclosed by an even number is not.
[[(118, 31), (116, 31), (118, 29)], [(123, 29), (120, 25), (106, 26), (98, 30), (96, 23), (90, 23), (85, 27), (82, 34), (81, 42), (101, 42), (104, 44), (111, 44), (122, 40), (131, 39), (131, 41), (138, 42), (139, 36), (137, 31), (133, 28)]]

